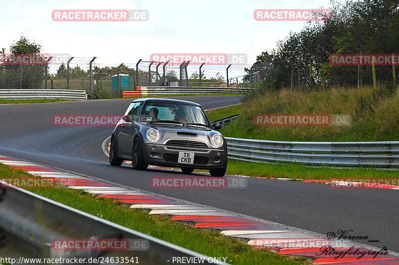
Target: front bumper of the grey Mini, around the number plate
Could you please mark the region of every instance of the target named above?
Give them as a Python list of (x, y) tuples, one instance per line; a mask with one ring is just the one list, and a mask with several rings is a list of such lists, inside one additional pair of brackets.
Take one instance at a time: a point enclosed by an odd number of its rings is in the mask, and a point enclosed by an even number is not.
[[(144, 161), (157, 166), (169, 166), (175, 168), (188, 167), (196, 169), (217, 169), (222, 168), (227, 160), (226, 149), (207, 149), (207, 152), (198, 152), (188, 148), (173, 148), (163, 144), (144, 144)], [(156, 147), (153, 150), (153, 146)], [(194, 163), (178, 163), (179, 151), (194, 152)]]

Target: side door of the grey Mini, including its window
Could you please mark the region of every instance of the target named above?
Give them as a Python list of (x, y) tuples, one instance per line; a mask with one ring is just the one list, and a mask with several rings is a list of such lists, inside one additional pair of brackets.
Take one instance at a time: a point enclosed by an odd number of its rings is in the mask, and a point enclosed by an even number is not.
[(143, 108), (144, 102), (136, 102), (135, 105), (127, 113), (131, 117), (130, 122), (125, 122), (121, 128), (121, 142), (119, 143), (120, 151), (123, 153), (132, 154), (133, 150), (133, 138), (138, 129), (138, 121), (140, 117), (141, 109)]

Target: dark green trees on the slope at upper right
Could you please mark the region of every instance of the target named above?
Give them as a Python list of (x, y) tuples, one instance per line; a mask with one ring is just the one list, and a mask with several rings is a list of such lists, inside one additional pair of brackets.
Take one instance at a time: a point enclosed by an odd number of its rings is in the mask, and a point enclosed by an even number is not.
[[(309, 64), (314, 75), (311, 86), (321, 86), (322, 72), (327, 85), (356, 87), (358, 67), (331, 66), (331, 54), (399, 52), (398, 0), (331, 1), (330, 5), (330, 20), (308, 22), (300, 32), (291, 32), (279, 41), (274, 50), (257, 56), (252, 71), (261, 71), (261, 88), (290, 87), (291, 75), (295, 87), (299, 82), (309, 87)], [(361, 71), (363, 85), (372, 84), (371, 66), (362, 66)], [(392, 67), (378, 66), (377, 79), (392, 81)]]

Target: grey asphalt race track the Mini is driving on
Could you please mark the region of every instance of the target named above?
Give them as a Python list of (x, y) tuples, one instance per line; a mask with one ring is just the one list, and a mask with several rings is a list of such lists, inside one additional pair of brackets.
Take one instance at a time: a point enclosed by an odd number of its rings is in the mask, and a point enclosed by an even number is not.
[[(204, 109), (239, 103), (237, 96), (178, 97)], [(123, 114), (131, 99), (0, 105), (0, 155), (56, 167), (180, 200), (321, 234), (353, 230), (359, 243), (399, 252), (399, 190), (331, 189), (329, 185), (248, 178), (245, 189), (153, 189), (151, 177), (185, 176), (128, 165), (113, 167), (101, 144), (113, 127), (53, 126), (55, 114)], [(195, 176), (195, 175), (187, 175)], [(343, 178), (345, 176), (342, 176)], [(361, 176), (359, 176), (361, 177)]]

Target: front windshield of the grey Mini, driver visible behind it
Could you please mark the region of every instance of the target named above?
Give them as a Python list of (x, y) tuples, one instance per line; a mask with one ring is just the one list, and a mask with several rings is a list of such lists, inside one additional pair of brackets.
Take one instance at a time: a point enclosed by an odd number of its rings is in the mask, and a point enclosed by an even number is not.
[(200, 106), (169, 102), (148, 102), (141, 122), (171, 122), (209, 127), (205, 113)]

